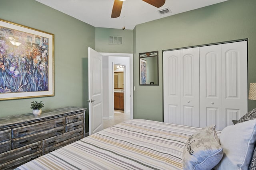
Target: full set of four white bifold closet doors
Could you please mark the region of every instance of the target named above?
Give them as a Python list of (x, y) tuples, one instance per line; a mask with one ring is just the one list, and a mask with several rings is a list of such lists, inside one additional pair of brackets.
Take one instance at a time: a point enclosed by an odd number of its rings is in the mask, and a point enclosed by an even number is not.
[(164, 51), (163, 76), (164, 122), (222, 130), (248, 111), (247, 41)]

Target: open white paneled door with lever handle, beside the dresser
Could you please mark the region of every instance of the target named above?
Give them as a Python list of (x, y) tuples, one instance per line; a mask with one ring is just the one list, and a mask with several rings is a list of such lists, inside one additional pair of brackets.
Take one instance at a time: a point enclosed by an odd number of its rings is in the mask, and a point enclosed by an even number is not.
[(88, 47), (89, 135), (103, 129), (102, 55)]

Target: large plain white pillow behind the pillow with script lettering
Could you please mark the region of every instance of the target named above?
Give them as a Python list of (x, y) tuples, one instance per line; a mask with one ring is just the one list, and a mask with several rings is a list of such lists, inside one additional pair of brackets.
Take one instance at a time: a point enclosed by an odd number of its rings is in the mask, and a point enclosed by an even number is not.
[(214, 170), (247, 170), (256, 143), (256, 119), (230, 125), (220, 133), (222, 160)]

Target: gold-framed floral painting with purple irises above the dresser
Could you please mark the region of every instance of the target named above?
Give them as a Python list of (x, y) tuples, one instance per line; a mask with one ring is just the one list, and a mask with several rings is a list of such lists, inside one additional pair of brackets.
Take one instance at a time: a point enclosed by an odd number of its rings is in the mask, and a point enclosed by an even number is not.
[(54, 96), (54, 35), (0, 19), (0, 100)]

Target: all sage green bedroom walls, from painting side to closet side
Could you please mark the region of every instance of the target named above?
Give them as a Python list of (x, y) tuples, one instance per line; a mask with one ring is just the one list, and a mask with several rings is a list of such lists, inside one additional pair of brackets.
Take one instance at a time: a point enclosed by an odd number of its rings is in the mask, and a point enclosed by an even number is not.
[[(88, 108), (88, 47), (134, 54), (134, 118), (163, 121), (162, 50), (248, 38), (248, 82), (256, 82), (255, 6), (255, 0), (228, 0), (122, 30), (93, 27), (35, 0), (0, 0), (1, 19), (54, 34), (55, 78), (55, 96), (0, 101), (0, 116), (31, 113), (35, 100), (43, 109)], [(124, 45), (109, 45), (108, 35), (123, 36)], [(159, 51), (159, 86), (139, 86), (138, 54), (147, 51)], [(249, 109), (255, 107), (249, 100)]]

